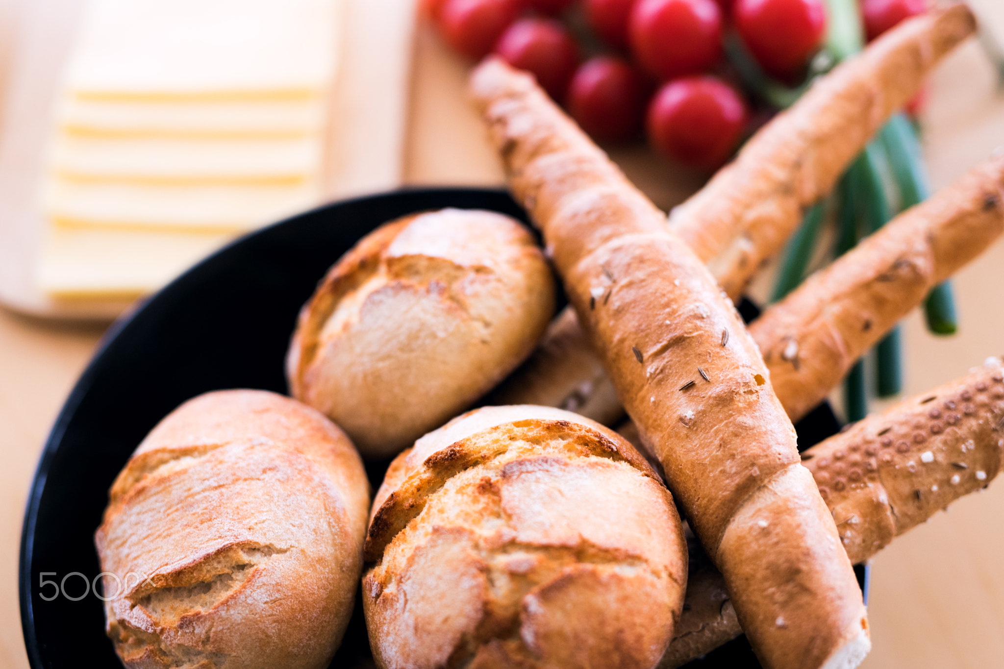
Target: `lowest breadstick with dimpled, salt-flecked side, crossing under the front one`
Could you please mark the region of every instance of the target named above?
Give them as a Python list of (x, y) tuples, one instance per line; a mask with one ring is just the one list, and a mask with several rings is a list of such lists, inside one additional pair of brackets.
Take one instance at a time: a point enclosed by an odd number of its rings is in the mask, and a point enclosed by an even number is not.
[[(851, 562), (982, 489), (1004, 454), (1004, 366), (968, 376), (868, 416), (802, 453)], [(684, 613), (660, 669), (673, 669), (742, 632), (720, 574), (691, 551)]]

